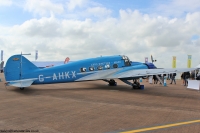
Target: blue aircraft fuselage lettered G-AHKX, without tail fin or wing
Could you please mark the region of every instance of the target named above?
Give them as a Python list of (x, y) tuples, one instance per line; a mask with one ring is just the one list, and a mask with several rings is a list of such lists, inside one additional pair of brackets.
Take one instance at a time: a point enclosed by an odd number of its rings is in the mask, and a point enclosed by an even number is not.
[[(103, 56), (97, 58), (90, 58), (80, 61), (74, 61), (69, 64), (61, 66), (39, 69), (31, 74), (22, 74), (22, 79), (38, 78), (33, 84), (49, 84), (49, 83), (62, 83), (62, 82), (74, 82), (85, 80), (97, 80), (103, 79), (105, 75), (98, 74), (99, 71), (107, 70), (126, 71), (131, 67), (135, 69), (148, 69), (148, 66), (140, 62), (131, 62), (127, 56)], [(84, 77), (91, 76), (84, 80)], [(109, 76), (107, 75), (109, 78)], [(83, 80), (79, 80), (83, 79)]]

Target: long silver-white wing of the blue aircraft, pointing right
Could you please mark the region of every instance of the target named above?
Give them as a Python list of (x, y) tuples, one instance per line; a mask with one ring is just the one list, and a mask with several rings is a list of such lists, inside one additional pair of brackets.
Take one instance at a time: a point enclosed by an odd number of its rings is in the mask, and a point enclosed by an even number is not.
[(192, 71), (195, 69), (196, 68), (168, 68), (168, 69), (134, 69), (133, 68), (133, 69), (130, 69), (130, 68), (124, 67), (124, 68), (102, 70), (95, 73), (91, 73), (87, 76), (77, 79), (76, 81), (141, 77), (141, 76), (147, 76), (147, 75), (187, 72), (187, 71)]

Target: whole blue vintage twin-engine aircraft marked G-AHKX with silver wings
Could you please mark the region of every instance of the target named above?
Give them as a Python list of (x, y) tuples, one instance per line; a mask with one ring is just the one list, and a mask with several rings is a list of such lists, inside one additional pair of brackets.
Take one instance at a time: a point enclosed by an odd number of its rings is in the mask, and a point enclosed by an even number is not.
[(128, 80), (191, 70), (194, 68), (157, 69), (153, 63), (132, 62), (125, 55), (101, 56), (41, 69), (20, 54), (8, 59), (4, 75), (6, 85), (23, 90), (30, 85), (91, 80), (103, 80), (114, 86), (114, 79), (133, 86)]

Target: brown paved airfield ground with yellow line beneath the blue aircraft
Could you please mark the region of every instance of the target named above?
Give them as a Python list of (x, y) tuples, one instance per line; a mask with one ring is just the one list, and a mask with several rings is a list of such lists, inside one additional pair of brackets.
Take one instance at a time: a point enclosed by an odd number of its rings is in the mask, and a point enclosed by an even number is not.
[(143, 81), (144, 90), (132, 90), (117, 80), (115, 87), (90, 81), (21, 91), (6, 89), (2, 73), (0, 78), (0, 132), (200, 133), (200, 92), (186, 89), (180, 80), (167, 87)]

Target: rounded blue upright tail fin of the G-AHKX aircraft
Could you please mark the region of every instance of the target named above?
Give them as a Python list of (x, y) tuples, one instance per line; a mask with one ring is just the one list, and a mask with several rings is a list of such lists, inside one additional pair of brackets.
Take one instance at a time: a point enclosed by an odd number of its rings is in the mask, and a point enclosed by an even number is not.
[(23, 74), (30, 73), (33, 70), (39, 69), (28, 59), (22, 55), (13, 55), (7, 62), (4, 69), (4, 75), (6, 81), (21, 80)]

